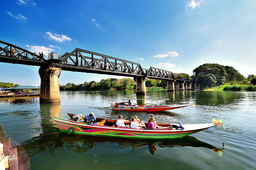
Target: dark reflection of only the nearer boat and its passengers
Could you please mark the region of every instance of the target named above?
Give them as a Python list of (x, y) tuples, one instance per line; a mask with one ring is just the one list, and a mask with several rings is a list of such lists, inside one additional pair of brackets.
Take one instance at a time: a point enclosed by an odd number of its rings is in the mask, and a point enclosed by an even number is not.
[[(183, 138), (174, 138), (166, 141), (156, 141), (156, 140), (148, 140), (141, 141), (135, 139), (123, 139), (123, 138), (106, 138), (106, 137), (95, 137), (95, 136), (84, 136), (84, 135), (68, 135), (63, 136), (61, 139), (61, 143), (64, 143), (63, 146), (66, 146), (68, 150), (72, 150), (77, 153), (86, 152), (88, 149), (94, 149), (94, 145), (97, 143), (117, 143), (119, 146), (132, 146), (132, 149), (137, 149), (142, 146), (148, 146), (149, 152), (153, 155), (156, 154), (156, 143), (160, 147), (184, 147), (184, 146), (192, 146), (192, 147), (204, 147), (211, 149), (214, 152), (219, 152), (221, 156), (224, 152), (224, 148), (220, 149), (216, 146), (210, 145), (203, 141), (197, 140), (195, 137), (186, 136)], [(73, 145), (72, 145), (73, 144)], [(224, 147), (224, 143), (223, 143)]]

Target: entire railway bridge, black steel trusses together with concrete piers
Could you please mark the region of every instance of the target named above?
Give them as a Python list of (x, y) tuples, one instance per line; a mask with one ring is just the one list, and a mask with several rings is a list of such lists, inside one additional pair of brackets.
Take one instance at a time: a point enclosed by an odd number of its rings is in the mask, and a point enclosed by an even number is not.
[(136, 81), (136, 94), (145, 94), (145, 82), (149, 79), (167, 81), (167, 91), (174, 91), (174, 82), (178, 90), (195, 88), (195, 81), (180, 76), (174, 77), (171, 71), (160, 68), (142, 68), (139, 63), (108, 55), (76, 48), (71, 53), (39, 55), (0, 40), (0, 62), (40, 66), (41, 77), (40, 102), (60, 102), (59, 76), (61, 70), (108, 74), (133, 77)]

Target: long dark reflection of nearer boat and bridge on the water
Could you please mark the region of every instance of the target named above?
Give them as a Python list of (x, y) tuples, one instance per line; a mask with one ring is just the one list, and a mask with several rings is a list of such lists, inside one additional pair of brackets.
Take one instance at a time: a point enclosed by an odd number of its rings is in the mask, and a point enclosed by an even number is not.
[[(136, 139), (122, 139), (122, 138), (106, 138), (106, 137), (94, 137), (94, 136), (85, 136), (85, 135), (74, 135), (74, 134), (49, 134), (49, 135), (40, 135), (40, 137), (33, 138), (24, 142), (22, 145), (17, 146), (17, 148), (24, 149), (27, 152), (23, 152), (23, 150), (19, 150), (18, 152), (21, 156), (33, 157), (37, 154), (44, 153), (45, 151), (52, 154), (52, 156), (58, 154), (60, 151), (73, 151), (76, 153), (84, 153), (90, 149), (94, 149), (95, 147), (101, 147), (102, 144), (117, 144), (120, 147), (123, 146), (131, 146), (132, 149), (137, 149), (139, 147), (148, 146), (148, 150), (150, 154), (157, 154), (157, 143), (159, 147), (204, 147), (213, 150), (214, 152), (219, 152), (219, 154), (224, 152), (224, 150), (205, 143), (203, 141), (197, 140), (194, 137), (187, 136), (183, 138), (174, 138), (168, 139), (165, 141), (158, 140), (136, 140)], [(115, 146), (113, 146), (115, 147)], [(223, 144), (224, 147), (224, 144)], [(100, 148), (104, 150), (104, 148)], [(23, 155), (22, 155), (23, 154)], [(220, 155), (220, 156), (221, 156)], [(23, 159), (25, 160), (25, 159)]]

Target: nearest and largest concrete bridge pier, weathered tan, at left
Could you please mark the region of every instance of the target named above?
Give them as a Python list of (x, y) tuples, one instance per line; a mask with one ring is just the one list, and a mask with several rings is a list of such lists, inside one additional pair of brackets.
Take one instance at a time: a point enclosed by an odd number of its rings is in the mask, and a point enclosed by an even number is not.
[(60, 77), (61, 68), (43, 67), (39, 68), (41, 77), (40, 103), (60, 103)]

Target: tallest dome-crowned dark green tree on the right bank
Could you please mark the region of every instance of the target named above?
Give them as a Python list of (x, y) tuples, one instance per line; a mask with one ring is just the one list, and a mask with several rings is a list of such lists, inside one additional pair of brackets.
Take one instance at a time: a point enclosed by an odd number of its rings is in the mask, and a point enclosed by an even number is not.
[(216, 77), (217, 85), (223, 84), (227, 76), (226, 69), (223, 65), (208, 63), (196, 67), (193, 70), (193, 74), (195, 78), (198, 78), (200, 75), (213, 74)]

